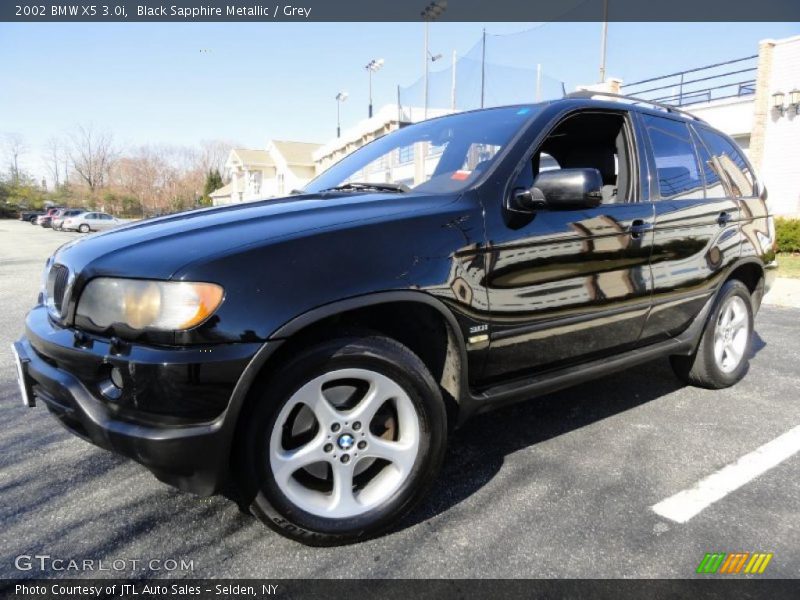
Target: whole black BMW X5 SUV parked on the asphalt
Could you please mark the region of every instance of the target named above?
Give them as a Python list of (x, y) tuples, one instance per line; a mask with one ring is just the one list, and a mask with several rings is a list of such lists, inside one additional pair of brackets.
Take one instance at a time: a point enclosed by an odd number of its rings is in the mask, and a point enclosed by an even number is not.
[(26, 403), (75, 434), (345, 543), (411, 509), (472, 414), (660, 356), (736, 383), (774, 239), (728, 137), (568, 97), (409, 125), (289, 198), (63, 246), (14, 347)]

